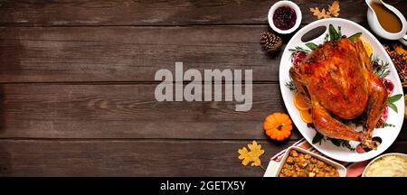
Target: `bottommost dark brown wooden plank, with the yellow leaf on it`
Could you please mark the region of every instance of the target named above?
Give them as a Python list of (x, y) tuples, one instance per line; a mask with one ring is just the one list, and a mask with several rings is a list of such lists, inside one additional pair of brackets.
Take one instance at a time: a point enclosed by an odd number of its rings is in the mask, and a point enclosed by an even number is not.
[[(0, 175), (261, 177), (259, 167), (243, 167), (237, 158), (237, 150), (250, 142), (0, 140)], [(259, 143), (265, 167), (287, 147)], [(406, 149), (406, 142), (398, 142), (389, 152)]]

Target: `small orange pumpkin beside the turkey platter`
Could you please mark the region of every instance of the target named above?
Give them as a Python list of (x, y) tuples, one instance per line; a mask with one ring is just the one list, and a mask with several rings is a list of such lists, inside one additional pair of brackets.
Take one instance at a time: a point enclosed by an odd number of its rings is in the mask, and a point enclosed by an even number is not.
[(263, 129), (271, 139), (282, 141), (291, 135), (292, 122), (284, 113), (274, 113), (264, 119)]

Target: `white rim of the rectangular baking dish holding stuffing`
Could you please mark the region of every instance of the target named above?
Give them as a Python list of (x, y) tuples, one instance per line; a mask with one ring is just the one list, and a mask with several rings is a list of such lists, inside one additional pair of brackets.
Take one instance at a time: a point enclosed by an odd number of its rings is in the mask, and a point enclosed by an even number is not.
[(284, 153), (284, 156), (281, 158), (279, 166), (277, 167), (277, 169), (272, 174), (274, 177), (279, 177), (279, 172), (281, 172), (282, 166), (284, 165), (284, 163), (286, 163), (286, 160), (289, 157), (289, 152), (291, 150), (295, 150), (295, 151), (297, 151), (299, 153), (306, 153), (306, 154), (309, 153), (311, 156), (316, 157), (319, 161), (327, 163), (327, 164), (333, 166), (334, 168), (336, 168), (337, 172), (339, 173), (339, 177), (346, 177), (346, 168), (345, 168), (344, 165), (342, 165), (340, 163), (336, 163), (336, 162), (334, 162), (332, 160), (329, 160), (326, 157), (321, 156), (321, 155), (319, 155), (317, 153), (311, 153), (308, 150), (305, 150), (305, 149), (297, 147), (297, 146), (290, 146), (287, 149), (286, 153)]

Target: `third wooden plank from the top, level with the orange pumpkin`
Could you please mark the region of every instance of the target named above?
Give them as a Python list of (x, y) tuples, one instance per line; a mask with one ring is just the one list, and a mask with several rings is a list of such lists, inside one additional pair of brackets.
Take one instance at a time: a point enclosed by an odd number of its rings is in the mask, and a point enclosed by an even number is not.
[(253, 85), (249, 112), (237, 102), (157, 102), (155, 88), (2, 85), (0, 137), (265, 139), (263, 118), (285, 112), (278, 84)]

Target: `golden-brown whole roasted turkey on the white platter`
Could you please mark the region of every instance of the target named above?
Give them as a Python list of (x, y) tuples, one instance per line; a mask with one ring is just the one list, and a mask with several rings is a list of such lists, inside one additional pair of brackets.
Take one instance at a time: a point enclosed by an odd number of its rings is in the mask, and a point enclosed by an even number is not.
[[(376, 123), (386, 107), (387, 92), (372, 70), (359, 38), (321, 44), (289, 75), (311, 107), (312, 121), (327, 137), (361, 142), (375, 149)], [(344, 121), (364, 116), (362, 131)]]

